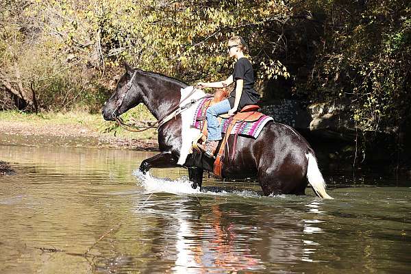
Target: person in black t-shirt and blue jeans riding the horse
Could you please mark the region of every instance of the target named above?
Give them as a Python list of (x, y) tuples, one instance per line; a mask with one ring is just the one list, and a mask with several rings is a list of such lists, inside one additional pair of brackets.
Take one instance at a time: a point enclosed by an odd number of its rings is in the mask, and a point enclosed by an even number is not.
[(199, 88), (223, 88), (235, 82), (234, 90), (229, 97), (215, 105), (210, 106), (206, 112), (208, 138), (206, 141), (206, 155), (213, 157), (219, 140), (221, 140), (221, 129), (217, 117), (227, 113), (233, 116), (235, 112), (241, 110), (245, 105), (257, 103), (260, 95), (254, 90), (254, 73), (251, 62), (245, 58), (244, 51), (247, 50), (245, 40), (240, 36), (233, 36), (228, 40), (227, 51), (229, 57), (236, 59), (234, 72), (227, 79), (220, 82), (203, 83), (199, 82)]

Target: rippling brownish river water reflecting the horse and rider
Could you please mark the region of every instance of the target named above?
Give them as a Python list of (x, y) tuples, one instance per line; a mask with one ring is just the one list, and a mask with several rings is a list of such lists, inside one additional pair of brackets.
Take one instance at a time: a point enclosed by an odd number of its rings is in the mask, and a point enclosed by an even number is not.
[(154, 154), (0, 142), (16, 171), (0, 177), (0, 273), (411, 273), (410, 182), (326, 174), (332, 201), (199, 192), (184, 169), (138, 173)]

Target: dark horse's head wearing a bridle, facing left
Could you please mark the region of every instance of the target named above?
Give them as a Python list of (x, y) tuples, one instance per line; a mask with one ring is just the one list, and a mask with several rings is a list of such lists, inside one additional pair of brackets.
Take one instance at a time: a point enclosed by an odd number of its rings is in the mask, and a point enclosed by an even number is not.
[(136, 84), (138, 70), (125, 64), (125, 73), (120, 78), (114, 93), (105, 102), (101, 113), (105, 120), (114, 121), (114, 117), (120, 116), (130, 108), (134, 108), (142, 101), (142, 90)]

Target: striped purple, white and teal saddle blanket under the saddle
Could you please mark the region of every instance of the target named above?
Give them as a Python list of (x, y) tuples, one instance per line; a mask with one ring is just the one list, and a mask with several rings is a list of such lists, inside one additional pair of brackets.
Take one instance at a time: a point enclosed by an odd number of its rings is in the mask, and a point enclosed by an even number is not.
[[(210, 100), (212, 100), (212, 98), (204, 98), (200, 101), (195, 111), (195, 116), (192, 119), (191, 125), (193, 127), (196, 127), (197, 129), (202, 129), (204, 127), (204, 121), (206, 120), (199, 121), (198, 119), (199, 117), (206, 115), (206, 110), (208, 106), (207, 102)], [(232, 132), (230, 132), (230, 134), (236, 134), (236, 132), (238, 132), (238, 134), (241, 134), (241, 135), (257, 138), (260, 132), (262, 131), (262, 129), (264, 128), (264, 125), (266, 125), (266, 123), (268, 123), (269, 121), (273, 121), (273, 120), (274, 119), (271, 116), (262, 115), (261, 118), (258, 119), (257, 121), (236, 123), (236, 125), (233, 127)], [(221, 118), (221, 123), (220, 123), (221, 132), (226, 133), (228, 125), (229, 125), (229, 119)]]

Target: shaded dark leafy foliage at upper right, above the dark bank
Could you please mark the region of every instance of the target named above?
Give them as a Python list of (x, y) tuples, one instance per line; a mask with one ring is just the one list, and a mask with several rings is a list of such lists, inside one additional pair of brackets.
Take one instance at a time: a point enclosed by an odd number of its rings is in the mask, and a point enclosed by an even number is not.
[(410, 3), (331, 2), (323, 10), (329, 14), (325, 47), (317, 55), (315, 77), (304, 84), (312, 99), (348, 99), (363, 130), (404, 127), (410, 121)]

